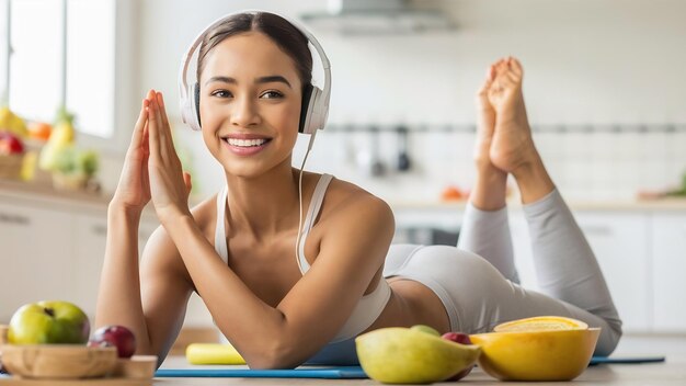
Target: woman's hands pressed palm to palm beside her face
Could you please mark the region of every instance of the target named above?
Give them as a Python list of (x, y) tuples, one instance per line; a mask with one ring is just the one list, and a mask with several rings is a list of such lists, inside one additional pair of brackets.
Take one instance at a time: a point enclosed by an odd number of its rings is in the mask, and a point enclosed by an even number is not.
[(160, 92), (150, 90), (142, 100), (112, 203), (139, 215), (152, 200), (164, 225), (191, 215), (190, 192), (191, 175), (183, 172), (174, 149), (164, 100)]

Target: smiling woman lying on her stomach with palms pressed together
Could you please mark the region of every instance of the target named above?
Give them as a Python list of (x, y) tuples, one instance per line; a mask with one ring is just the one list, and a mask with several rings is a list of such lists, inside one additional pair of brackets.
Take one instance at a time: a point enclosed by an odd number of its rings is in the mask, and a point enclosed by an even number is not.
[[(621, 322), (531, 140), (518, 61), (492, 65), (478, 93), (478, 179), (459, 248), (391, 246), (389, 206), (351, 183), (305, 172), (300, 209), (291, 151), (311, 80), (307, 44), (298, 27), (266, 12), (232, 15), (205, 34), (196, 107), (228, 189), (193, 211), (162, 95), (148, 93), (108, 208), (95, 325), (127, 326), (138, 353), (161, 362), (197, 292), (253, 368), (355, 363), (354, 338), (382, 327), (472, 333), (536, 315), (602, 327), (596, 354), (609, 354)], [(545, 294), (516, 284), (508, 173)], [(149, 201), (161, 227), (139, 266), (137, 228)]]

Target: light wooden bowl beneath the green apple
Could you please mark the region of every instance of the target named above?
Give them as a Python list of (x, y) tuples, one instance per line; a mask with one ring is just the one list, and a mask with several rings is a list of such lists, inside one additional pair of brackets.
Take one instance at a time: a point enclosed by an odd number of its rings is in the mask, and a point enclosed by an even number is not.
[(2, 363), (13, 375), (27, 378), (73, 379), (101, 377), (117, 363), (115, 348), (81, 344), (4, 344)]

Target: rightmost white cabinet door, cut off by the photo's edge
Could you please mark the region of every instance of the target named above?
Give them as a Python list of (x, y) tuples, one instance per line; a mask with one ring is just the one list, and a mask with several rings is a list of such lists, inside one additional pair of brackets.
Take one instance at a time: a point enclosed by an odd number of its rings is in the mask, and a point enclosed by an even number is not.
[(654, 214), (652, 240), (655, 330), (686, 332), (686, 214)]

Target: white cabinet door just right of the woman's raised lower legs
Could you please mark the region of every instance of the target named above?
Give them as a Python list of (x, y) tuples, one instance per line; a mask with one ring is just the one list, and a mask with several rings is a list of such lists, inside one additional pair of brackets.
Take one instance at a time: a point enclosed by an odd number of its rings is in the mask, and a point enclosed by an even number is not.
[(576, 222), (601, 265), (625, 331), (652, 326), (650, 224), (644, 213), (582, 212)]

